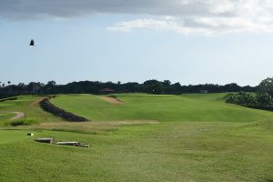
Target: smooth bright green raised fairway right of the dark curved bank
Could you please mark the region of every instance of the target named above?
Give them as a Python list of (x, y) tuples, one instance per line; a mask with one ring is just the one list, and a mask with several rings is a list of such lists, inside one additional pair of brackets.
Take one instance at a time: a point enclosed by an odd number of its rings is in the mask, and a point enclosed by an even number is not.
[[(118, 95), (124, 105), (107, 103), (101, 96), (57, 96), (51, 102), (79, 116), (95, 121), (157, 120), (250, 122), (271, 119), (272, 113), (227, 105), (223, 94), (153, 96)], [(221, 101), (222, 100), (222, 101)]]

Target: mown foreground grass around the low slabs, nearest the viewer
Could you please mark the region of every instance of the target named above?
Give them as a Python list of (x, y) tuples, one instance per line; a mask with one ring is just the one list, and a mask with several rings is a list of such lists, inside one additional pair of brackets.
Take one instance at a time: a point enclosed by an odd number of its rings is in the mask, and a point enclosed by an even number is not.
[[(246, 123), (165, 122), (96, 135), (44, 130), (28, 138), (27, 132), (0, 131), (8, 139), (0, 145), (1, 181), (257, 182), (273, 171), (271, 130)], [(44, 136), (92, 147), (33, 141)]]

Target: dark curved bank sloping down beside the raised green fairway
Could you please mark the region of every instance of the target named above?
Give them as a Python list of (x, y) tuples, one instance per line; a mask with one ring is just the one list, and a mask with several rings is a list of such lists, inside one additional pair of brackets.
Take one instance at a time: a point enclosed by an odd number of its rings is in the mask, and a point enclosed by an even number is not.
[(73, 121), (73, 122), (84, 122), (88, 121), (89, 119), (86, 119), (82, 116), (76, 116), (73, 113), (67, 112), (64, 109), (61, 109), (57, 106), (54, 106), (49, 101), (50, 97), (45, 97), (41, 102), (40, 106), (47, 112), (55, 115), (55, 116), (61, 116), (67, 121)]

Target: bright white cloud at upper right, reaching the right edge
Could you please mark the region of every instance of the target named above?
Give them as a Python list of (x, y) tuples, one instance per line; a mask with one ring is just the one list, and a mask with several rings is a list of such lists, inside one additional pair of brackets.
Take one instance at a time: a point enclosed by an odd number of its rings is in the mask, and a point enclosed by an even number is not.
[[(174, 15), (167, 19), (153, 16), (120, 22), (109, 30), (130, 32), (134, 29), (171, 30), (179, 34), (226, 35), (231, 33), (273, 33), (273, 0), (198, 0), (184, 5), (203, 5), (203, 13)], [(198, 7), (200, 8), (200, 6)]]

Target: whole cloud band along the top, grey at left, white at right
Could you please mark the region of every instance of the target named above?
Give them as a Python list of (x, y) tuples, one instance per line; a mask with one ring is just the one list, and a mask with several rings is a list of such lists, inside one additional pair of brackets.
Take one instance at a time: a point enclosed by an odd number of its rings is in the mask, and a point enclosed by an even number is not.
[(69, 18), (93, 14), (147, 15), (108, 27), (181, 34), (273, 33), (273, 0), (1, 0), (0, 18)]

